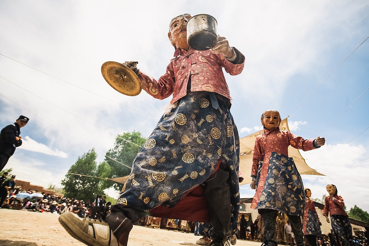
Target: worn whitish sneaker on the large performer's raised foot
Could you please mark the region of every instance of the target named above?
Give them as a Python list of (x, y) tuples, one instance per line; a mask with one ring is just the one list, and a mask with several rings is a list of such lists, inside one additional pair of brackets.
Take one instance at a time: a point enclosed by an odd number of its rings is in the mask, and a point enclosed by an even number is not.
[(59, 216), (60, 224), (73, 238), (89, 246), (119, 246), (109, 225), (102, 220), (80, 218), (65, 212)]

